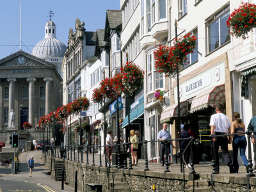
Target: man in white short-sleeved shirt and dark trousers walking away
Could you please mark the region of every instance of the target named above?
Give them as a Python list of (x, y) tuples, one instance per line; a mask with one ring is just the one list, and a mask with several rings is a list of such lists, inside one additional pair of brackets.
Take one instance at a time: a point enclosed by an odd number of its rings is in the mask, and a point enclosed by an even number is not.
[[(230, 133), (230, 121), (226, 115), (222, 113), (223, 105), (218, 104), (216, 106), (216, 114), (211, 116), (210, 126), (211, 126), (211, 135), (221, 135)], [(228, 141), (229, 136), (220, 136), (212, 138), (212, 149), (215, 160), (215, 166), (212, 169), (212, 174), (220, 173), (220, 163), (219, 163), (219, 154), (218, 150), (221, 147), (221, 152), (224, 157), (225, 163), (229, 167), (230, 173), (235, 173), (234, 166), (230, 155), (228, 154)]]

